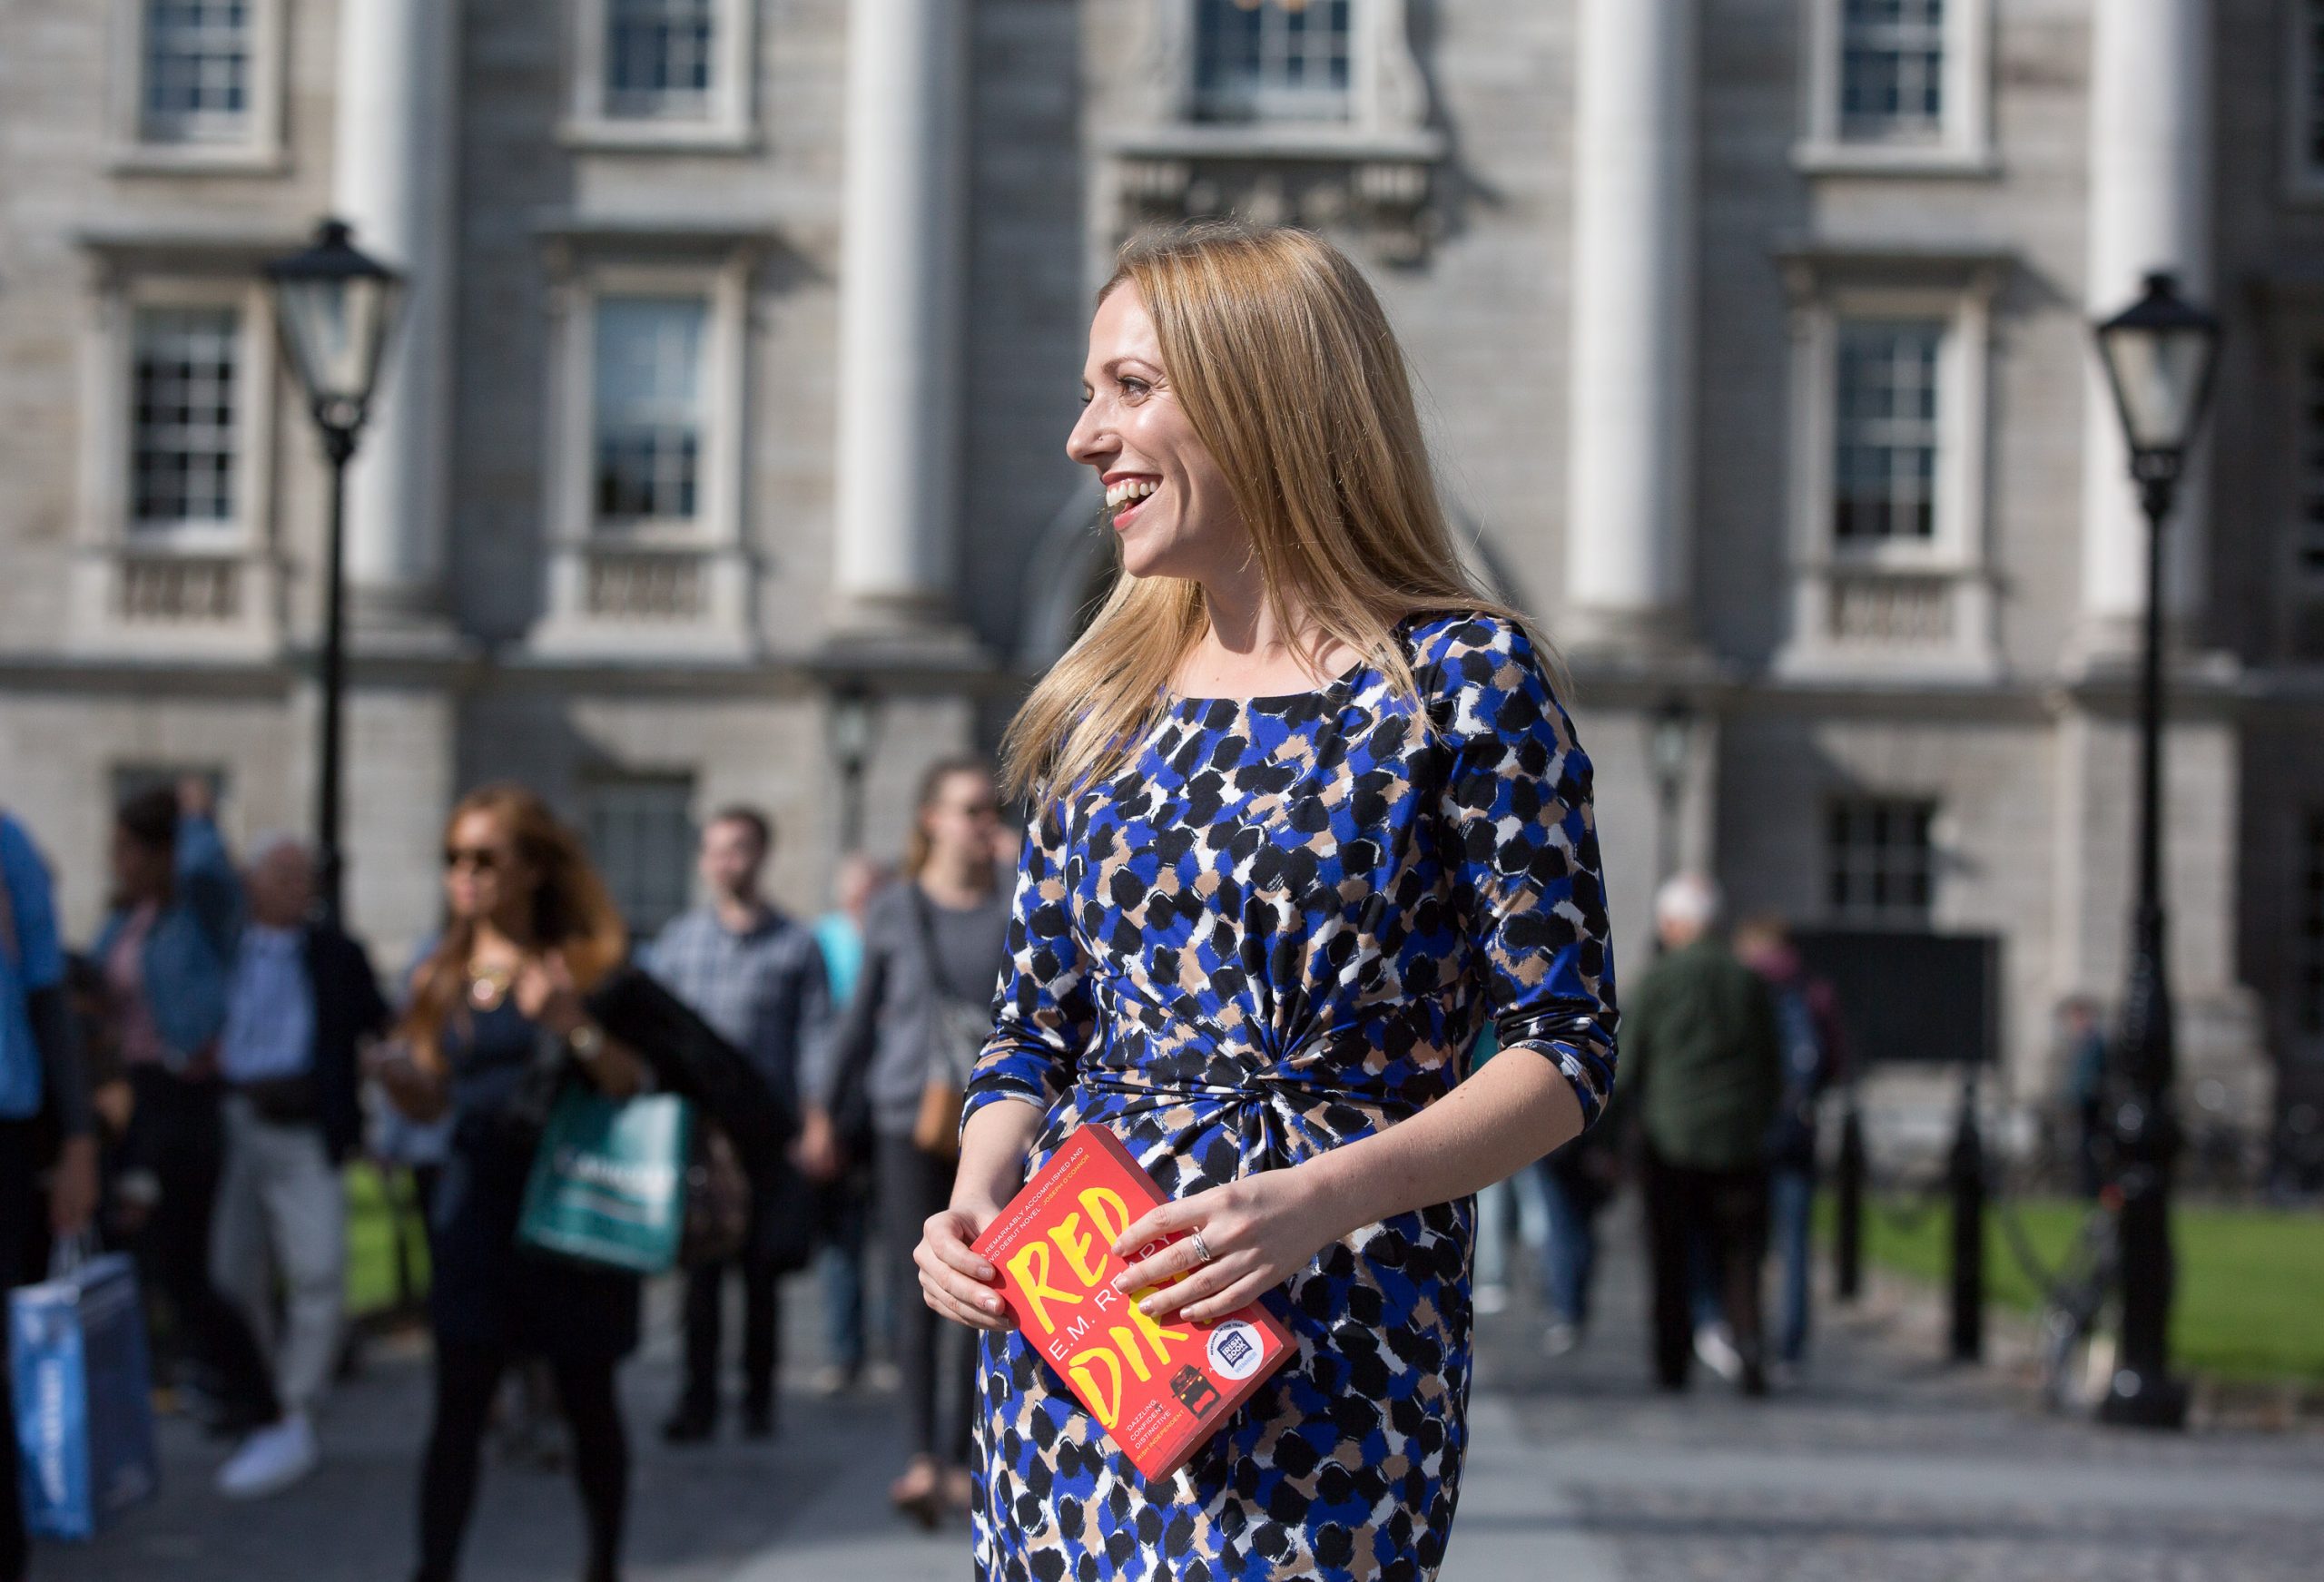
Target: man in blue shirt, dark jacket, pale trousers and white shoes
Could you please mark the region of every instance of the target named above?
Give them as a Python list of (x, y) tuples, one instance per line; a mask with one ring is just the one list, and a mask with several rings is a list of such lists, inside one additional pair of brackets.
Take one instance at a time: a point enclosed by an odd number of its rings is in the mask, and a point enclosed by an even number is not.
[(223, 1494), (251, 1498), (297, 1482), (318, 1457), (311, 1410), (337, 1361), (346, 1285), (339, 1166), (363, 1141), (358, 1045), (388, 1024), (388, 1001), (363, 945), (316, 913), (314, 857), (297, 839), (256, 841), (244, 887), (218, 1034), (225, 1173), (209, 1278), (270, 1354), (281, 1398), (281, 1417), (218, 1470)]

